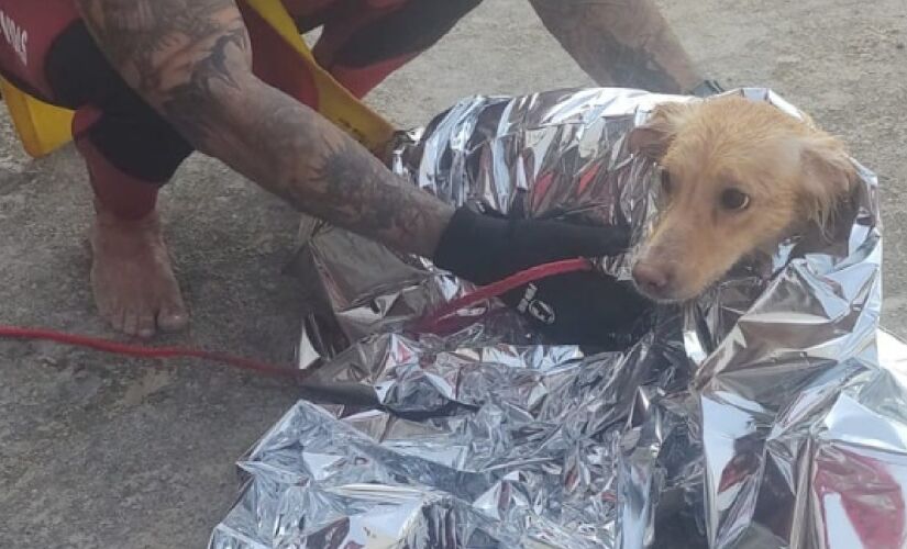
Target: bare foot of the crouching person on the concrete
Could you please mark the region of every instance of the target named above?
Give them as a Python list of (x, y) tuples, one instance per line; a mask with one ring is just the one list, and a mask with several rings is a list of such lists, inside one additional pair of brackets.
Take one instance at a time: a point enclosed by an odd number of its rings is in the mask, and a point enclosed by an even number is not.
[(170, 267), (157, 214), (124, 221), (96, 208), (90, 242), (91, 289), (98, 311), (114, 329), (152, 337), (177, 332), (189, 314)]

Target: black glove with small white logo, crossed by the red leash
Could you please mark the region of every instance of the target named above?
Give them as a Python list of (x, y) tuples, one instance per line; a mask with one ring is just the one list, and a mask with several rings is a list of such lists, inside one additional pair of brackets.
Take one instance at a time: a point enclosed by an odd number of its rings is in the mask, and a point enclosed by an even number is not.
[[(467, 208), (441, 236), (434, 264), (476, 284), (538, 265), (622, 253), (629, 232), (542, 220), (505, 220)], [(554, 343), (622, 348), (644, 329), (649, 302), (629, 283), (599, 272), (550, 277), (501, 299)]]

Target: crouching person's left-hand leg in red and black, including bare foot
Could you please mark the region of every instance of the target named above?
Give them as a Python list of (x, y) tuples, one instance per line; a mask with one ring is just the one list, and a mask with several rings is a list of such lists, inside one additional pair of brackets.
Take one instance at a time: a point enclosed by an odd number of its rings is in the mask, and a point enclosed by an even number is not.
[(74, 135), (95, 190), (91, 283), (101, 314), (150, 336), (186, 325), (155, 212), (157, 190), (190, 153), (93, 47), (71, 0), (0, 0), (0, 71), (77, 111)]

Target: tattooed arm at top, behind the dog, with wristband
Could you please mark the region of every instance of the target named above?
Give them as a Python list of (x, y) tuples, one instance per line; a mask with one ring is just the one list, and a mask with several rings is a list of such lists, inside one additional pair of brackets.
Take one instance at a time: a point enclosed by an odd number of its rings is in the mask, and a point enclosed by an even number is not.
[(530, 0), (545, 27), (599, 86), (665, 93), (703, 81), (654, 0)]

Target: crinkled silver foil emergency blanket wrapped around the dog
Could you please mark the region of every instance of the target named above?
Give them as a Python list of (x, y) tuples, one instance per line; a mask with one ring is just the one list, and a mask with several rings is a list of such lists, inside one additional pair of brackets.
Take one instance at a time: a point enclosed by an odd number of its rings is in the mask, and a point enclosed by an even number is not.
[[(798, 115), (768, 90), (733, 93)], [(392, 166), (455, 204), (626, 220), (639, 240), (655, 170), (624, 136), (681, 100), (472, 98)], [(624, 352), (539, 344), (496, 304), (455, 334), (411, 334), (468, 285), (303, 223), (323, 309), (300, 367), (318, 368), (322, 405), (300, 401), (242, 458), (210, 547), (907, 547), (907, 346), (878, 328), (877, 182), (859, 168), (833, 242), (741, 265)], [(626, 278), (631, 255), (600, 267)]]

